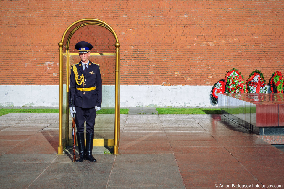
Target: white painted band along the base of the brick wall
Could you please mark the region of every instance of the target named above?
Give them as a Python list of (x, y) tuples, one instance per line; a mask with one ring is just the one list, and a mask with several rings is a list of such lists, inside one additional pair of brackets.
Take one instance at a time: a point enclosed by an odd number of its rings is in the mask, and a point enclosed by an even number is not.
[[(103, 86), (102, 107), (114, 106), (113, 85)], [(212, 106), (212, 86), (120, 85), (120, 106)], [(0, 85), (0, 106), (59, 104), (58, 85)]]

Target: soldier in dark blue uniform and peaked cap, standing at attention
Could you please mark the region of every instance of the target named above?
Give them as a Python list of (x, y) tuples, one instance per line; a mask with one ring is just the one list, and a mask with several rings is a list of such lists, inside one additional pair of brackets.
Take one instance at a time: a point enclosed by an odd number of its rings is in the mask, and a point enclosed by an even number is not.
[[(96, 111), (101, 109), (101, 73), (100, 66), (89, 61), (90, 50), (93, 46), (85, 41), (75, 45), (79, 50), (81, 61), (71, 67), (69, 107), (73, 116), (75, 113), (75, 123), (77, 128), (77, 143), (79, 157), (76, 162), (82, 162), (84, 159), (90, 162), (96, 162), (93, 157), (93, 140)], [(73, 108), (71, 106), (73, 100)], [(84, 139), (84, 123), (86, 121), (86, 150)]]

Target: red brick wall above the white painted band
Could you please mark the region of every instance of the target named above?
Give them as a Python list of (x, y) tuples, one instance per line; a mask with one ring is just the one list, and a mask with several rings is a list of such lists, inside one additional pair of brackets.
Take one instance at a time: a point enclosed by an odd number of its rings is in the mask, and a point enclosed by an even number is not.
[[(58, 84), (58, 42), (83, 18), (116, 31), (122, 85), (213, 85), (233, 67), (245, 80), (258, 69), (268, 82), (284, 69), (283, 1), (2, 0), (0, 18), (1, 85)], [(91, 40), (93, 53), (114, 52), (112, 35), (102, 31), (78, 30), (70, 51)], [(91, 60), (113, 84), (114, 58)]]

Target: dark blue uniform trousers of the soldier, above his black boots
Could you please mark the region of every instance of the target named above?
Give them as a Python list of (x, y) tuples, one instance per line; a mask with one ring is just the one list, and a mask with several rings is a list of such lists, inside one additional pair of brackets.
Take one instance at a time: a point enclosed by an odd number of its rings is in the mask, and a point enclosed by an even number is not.
[(95, 120), (96, 120), (96, 109), (93, 108), (81, 108), (75, 106), (75, 123), (77, 132), (84, 132), (84, 123), (86, 121), (86, 131), (88, 134), (94, 133)]

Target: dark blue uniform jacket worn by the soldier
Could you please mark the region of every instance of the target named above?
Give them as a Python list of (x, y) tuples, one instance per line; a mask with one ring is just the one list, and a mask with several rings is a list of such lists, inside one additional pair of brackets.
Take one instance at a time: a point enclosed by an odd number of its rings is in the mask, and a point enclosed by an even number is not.
[[(78, 75), (84, 73), (82, 62), (75, 64)], [(72, 68), (72, 66), (71, 66)], [(73, 107), (78, 106), (81, 108), (93, 108), (95, 106), (101, 107), (102, 89), (101, 89), (101, 72), (100, 66), (89, 61), (87, 73), (84, 76), (85, 86), (83, 83), (79, 86), (75, 81), (74, 71), (71, 69), (70, 74), (70, 88), (69, 88), (69, 107), (71, 105), (71, 97), (73, 99)], [(79, 82), (80, 84), (80, 82)], [(79, 91), (76, 88), (89, 88), (95, 87), (92, 91)], [(70, 92), (71, 89), (71, 92)]]

